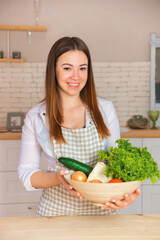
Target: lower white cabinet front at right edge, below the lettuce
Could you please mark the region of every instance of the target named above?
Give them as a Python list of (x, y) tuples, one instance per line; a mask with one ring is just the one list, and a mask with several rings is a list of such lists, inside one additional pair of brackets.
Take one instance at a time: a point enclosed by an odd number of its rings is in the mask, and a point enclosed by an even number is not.
[(143, 214), (160, 214), (160, 184), (143, 185)]

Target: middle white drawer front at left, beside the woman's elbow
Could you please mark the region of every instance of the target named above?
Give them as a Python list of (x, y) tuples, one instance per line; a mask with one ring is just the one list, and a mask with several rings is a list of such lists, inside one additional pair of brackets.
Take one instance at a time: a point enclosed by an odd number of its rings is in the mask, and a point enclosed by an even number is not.
[(0, 203), (39, 202), (41, 190), (26, 191), (17, 172), (0, 173)]

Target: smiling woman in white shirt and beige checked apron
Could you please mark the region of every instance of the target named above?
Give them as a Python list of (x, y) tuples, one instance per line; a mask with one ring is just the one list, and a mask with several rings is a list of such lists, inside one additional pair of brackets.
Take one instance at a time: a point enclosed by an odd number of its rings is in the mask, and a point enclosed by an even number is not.
[[(63, 156), (94, 166), (98, 151), (120, 138), (113, 104), (96, 97), (90, 53), (81, 39), (64, 37), (52, 46), (45, 81), (45, 100), (24, 121), (18, 167), (27, 190), (43, 188), (37, 216), (112, 214), (131, 204), (140, 190), (94, 206), (65, 181), (68, 170), (56, 161)], [(47, 172), (40, 170), (42, 151)]]

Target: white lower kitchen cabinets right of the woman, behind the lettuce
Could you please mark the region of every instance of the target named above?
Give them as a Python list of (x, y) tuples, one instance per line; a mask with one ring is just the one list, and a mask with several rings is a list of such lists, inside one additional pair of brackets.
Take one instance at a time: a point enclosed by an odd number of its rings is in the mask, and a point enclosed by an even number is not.
[[(160, 138), (130, 138), (133, 146), (147, 147), (160, 169)], [(160, 181), (153, 186), (150, 180), (141, 185), (142, 193), (134, 203), (117, 214), (155, 214), (160, 213)]]

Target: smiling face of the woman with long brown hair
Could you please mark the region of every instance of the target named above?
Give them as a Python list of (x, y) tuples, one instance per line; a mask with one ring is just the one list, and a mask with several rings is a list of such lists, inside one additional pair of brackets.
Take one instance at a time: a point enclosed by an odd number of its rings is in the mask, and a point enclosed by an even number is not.
[(88, 78), (88, 58), (79, 50), (62, 54), (56, 64), (56, 77), (61, 96), (76, 96)]

